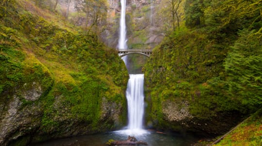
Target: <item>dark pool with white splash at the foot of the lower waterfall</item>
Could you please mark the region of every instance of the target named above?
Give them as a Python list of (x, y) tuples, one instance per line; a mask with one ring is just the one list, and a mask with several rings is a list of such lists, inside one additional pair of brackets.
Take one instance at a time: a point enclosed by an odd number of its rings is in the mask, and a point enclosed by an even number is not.
[(125, 141), (128, 135), (135, 136), (148, 146), (190, 146), (198, 139), (191, 134), (164, 133), (152, 130), (142, 130), (132, 133), (127, 130), (99, 133), (65, 139), (50, 140), (30, 146), (106, 146), (110, 139)]

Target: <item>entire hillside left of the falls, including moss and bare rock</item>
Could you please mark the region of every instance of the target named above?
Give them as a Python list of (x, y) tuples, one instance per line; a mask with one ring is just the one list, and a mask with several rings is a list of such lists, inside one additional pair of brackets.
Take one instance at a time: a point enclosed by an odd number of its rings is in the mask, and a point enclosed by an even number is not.
[(0, 64), (1, 146), (126, 122), (128, 73), (115, 49), (30, 0), (0, 2)]

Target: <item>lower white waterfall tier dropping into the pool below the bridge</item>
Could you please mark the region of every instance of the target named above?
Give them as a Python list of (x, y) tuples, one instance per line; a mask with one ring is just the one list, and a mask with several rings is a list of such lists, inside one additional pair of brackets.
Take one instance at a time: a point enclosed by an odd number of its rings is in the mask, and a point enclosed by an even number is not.
[(129, 129), (142, 129), (144, 114), (144, 74), (130, 74), (126, 91)]

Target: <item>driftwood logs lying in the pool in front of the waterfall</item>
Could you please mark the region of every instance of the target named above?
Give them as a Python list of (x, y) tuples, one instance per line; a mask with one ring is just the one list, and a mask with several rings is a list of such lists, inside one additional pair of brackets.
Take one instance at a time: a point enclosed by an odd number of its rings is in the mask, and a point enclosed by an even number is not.
[(144, 141), (137, 141), (135, 137), (128, 136), (128, 139), (126, 141), (115, 141), (115, 140), (109, 140), (107, 142), (109, 146), (134, 146), (134, 145), (144, 145), (147, 146), (147, 143)]

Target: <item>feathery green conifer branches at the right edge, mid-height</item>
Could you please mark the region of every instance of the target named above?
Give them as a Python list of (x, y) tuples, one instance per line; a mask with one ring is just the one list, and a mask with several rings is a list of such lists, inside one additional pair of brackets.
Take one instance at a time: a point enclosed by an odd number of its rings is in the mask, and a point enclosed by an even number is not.
[(262, 105), (261, 42), (261, 30), (244, 30), (225, 59), (229, 95), (250, 106)]

